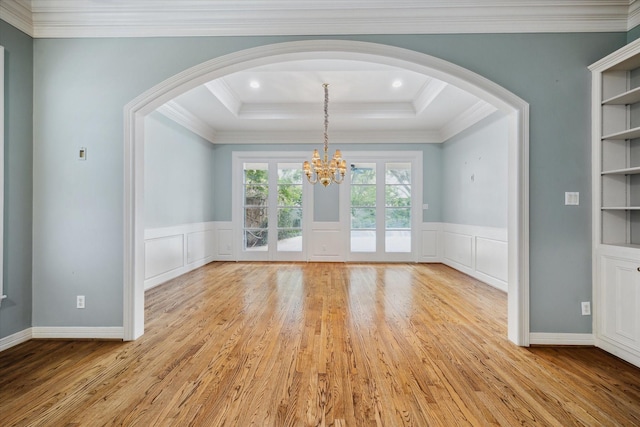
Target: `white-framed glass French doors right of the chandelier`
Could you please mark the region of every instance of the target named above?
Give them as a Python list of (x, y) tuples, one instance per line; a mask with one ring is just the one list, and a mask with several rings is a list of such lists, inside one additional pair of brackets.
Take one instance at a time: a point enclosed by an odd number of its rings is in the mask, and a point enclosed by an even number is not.
[(348, 220), (343, 220), (343, 229), (349, 230), (347, 259), (415, 261), (415, 236), (422, 221), (419, 158), (352, 156), (341, 200), (342, 217)]

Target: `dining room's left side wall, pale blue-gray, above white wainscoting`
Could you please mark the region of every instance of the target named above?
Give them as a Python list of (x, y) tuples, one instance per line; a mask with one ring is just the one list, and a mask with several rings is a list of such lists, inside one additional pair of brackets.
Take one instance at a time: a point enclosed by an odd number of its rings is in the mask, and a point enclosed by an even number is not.
[(160, 113), (146, 117), (145, 228), (214, 220), (213, 152), (209, 141)]

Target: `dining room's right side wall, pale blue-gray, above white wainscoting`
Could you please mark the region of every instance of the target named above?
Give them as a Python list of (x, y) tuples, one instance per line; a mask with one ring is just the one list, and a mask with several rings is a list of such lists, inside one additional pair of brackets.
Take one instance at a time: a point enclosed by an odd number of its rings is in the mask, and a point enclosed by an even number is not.
[(443, 222), (507, 228), (508, 132), (496, 112), (443, 144)]

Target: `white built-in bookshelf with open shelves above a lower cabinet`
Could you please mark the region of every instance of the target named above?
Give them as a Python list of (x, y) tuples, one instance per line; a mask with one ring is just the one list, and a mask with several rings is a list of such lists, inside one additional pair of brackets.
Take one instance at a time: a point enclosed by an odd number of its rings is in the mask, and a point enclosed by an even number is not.
[(593, 332), (640, 366), (640, 40), (589, 68)]

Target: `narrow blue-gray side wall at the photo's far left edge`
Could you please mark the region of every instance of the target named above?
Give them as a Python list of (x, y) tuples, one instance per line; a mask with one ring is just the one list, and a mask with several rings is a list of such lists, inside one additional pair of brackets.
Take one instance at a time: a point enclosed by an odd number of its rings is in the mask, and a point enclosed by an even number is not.
[(33, 40), (0, 21), (4, 68), (4, 292), (0, 338), (31, 327)]

